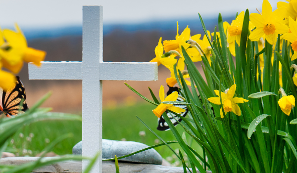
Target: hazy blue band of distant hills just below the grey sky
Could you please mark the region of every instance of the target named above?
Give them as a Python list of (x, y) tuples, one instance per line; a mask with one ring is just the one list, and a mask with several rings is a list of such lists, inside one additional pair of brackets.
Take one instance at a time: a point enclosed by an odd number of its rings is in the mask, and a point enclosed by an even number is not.
[[(224, 21), (231, 23), (233, 16), (227, 16), (223, 18)], [(205, 26), (211, 32), (213, 32), (213, 26), (217, 25), (217, 18), (205, 18), (203, 19)], [(138, 31), (158, 31), (161, 33), (167, 33), (168, 31), (176, 32), (176, 22), (173, 20), (166, 21), (148, 21), (137, 24), (103, 24), (103, 35), (109, 35), (115, 30), (122, 30), (124, 32), (138, 32)], [(189, 25), (194, 33), (202, 32), (202, 27), (199, 18), (193, 19), (181, 19), (178, 21), (180, 26), (180, 33), (184, 28)], [(64, 26), (55, 28), (22, 28), (27, 40), (32, 39), (46, 39), (46, 38), (58, 38), (63, 36), (82, 36), (82, 26)]]

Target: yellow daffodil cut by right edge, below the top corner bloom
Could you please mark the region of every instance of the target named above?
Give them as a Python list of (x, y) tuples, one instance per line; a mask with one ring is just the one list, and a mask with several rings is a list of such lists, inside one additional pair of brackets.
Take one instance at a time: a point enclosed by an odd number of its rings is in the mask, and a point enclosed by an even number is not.
[(289, 26), (291, 33), (286, 33), (283, 35), (283, 38), (289, 42), (291, 42), (292, 49), (294, 50), (294, 54), (291, 58), (293, 61), (297, 58), (297, 22), (294, 21), (291, 17), (289, 17)]

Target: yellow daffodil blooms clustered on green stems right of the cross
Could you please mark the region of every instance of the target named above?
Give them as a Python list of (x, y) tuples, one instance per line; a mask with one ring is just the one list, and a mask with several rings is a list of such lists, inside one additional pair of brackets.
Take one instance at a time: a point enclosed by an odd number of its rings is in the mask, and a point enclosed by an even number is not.
[[(289, 1), (289, 0), (288, 0)], [(244, 22), (244, 11), (240, 12), (235, 20), (232, 21), (231, 24), (228, 22), (223, 23), (224, 32), (227, 37), (227, 47), (229, 48), (230, 53), (235, 56), (235, 47), (236, 44), (240, 46), (241, 43), (241, 34)], [(280, 51), (282, 51), (283, 40), (289, 41), (288, 46), (291, 45), (294, 53), (290, 53), (291, 60), (297, 59), (297, 0), (290, 0), (287, 2), (278, 2), (277, 9), (272, 10), (272, 6), (268, 0), (263, 0), (261, 12), (251, 13), (249, 15), (249, 31), (250, 35), (248, 39), (252, 42), (258, 43), (258, 51), (261, 51), (265, 48), (265, 42), (267, 41), (269, 44), (273, 45), (273, 49), (275, 49), (277, 38), (281, 35), (280, 40)], [(220, 33), (211, 33), (207, 31), (208, 37), (211, 39), (212, 37), (218, 36), (220, 39)], [(166, 83), (168, 86), (173, 87), (176, 85), (177, 80), (174, 75), (173, 66), (177, 63), (177, 69), (182, 72), (183, 78), (189, 78), (189, 74), (187, 70), (185, 70), (184, 63), (184, 55), (181, 51), (181, 47), (183, 46), (192, 59), (193, 62), (201, 61), (201, 56), (206, 56), (209, 64), (211, 65), (211, 45), (208, 42), (207, 35), (204, 35), (201, 38), (201, 34), (191, 36), (191, 30), (187, 26), (184, 31), (179, 35), (179, 27), (177, 24), (177, 35), (175, 40), (164, 41), (161, 43), (161, 38), (157, 47), (155, 48), (156, 57), (152, 59), (150, 62), (157, 62), (158, 65), (162, 64), (167, 67), (171, 72), (171, 77), (166, 79)], [(285, 43), (285, 42), (284, 42)], [(163, 48), (164, 47), (164, 48)], [(165, 54), (163, 51), (165, 50)], [(179, 56), (179, 60), (177, 60), (176, 56)], [(272, 57), (274, 55), (272, 54)], [(272, 64), (273, 64), (273, 59)], [(260, 71), (263, 73), (264, 66), (264, 57), (263, 54), (259, 56), (260, 62)], [(257, 70), (258, 73), (258, 70)], [(279, 78), (280, 78), (280, 87), (282, 87), (282, 66), (279, 64)], [(258, 77), (258, 75), (257, 75)], [(179, 78), (179, 76), (178, 76)], [(262, 79), (260, 79), (262, 81)], [(297, 75), (293, 77), (294, 83), (297, 85)], [(186, 80), (187, 85), (191, 85), (191, 83)], [(230, 90), (227, 93), (222, 92), (222, 101), (225, 112), (234, 112), (236, 115), (240, 114), (240, 109), (237, 103), (243, 103), (248, 100), (243, 98), (233, 98), (235, 92), (236, 85), (230, 87)], [(218, 95), (219, 91), (215, 90), (215, 93)], [(232, 97), (231, 97), (232, 95)], [(287, 115), (290, 114), (292, 105), (287, 106), (286, 100), (289, 100), (288, 103), (291, 103), (293, 96), (282, 97), (279, 101), (279, 105), (283, 112)], [(295, 99), (295, 98), (294, 98)], [(211, 97), (208, 100), (214, 104), (220, 104), (219, 97)], [(290, 101), (291, 100), (291, 101)], [(290, 111), (289, 111), (289, 107)], [(221, 110), (221, 117), (222, 117)]]

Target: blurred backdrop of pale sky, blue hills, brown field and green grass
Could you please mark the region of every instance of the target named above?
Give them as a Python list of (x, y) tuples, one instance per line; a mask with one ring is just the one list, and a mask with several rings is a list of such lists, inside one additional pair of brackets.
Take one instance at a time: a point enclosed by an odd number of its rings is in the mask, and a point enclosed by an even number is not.
[[(273, 9), (276, 9), (277, 0), (269, 1)], [(191, 35), (204, 35), (198, 12), (207, 30), (213, 32), (219, 12), (224, 21), (231, 23), (236, 12), (247, 8), (250, 13), (256, 12), (256, 8), (261, 10), (262, 0), (0, 0), (0, 25), (2, 29), (13, 29), (14, 22), (17, 22), (30, 47), (47, 51), (46, 61), (82, 61), (82, 5), (103, 5), (103, 61), (147, 62), (155, 57), (154, 48), (160, 37), (162, 41), (175, 40), (177, 21), (179, 34), (189, 25)], [(134, 140), (148, 145), (158, 143), (156, 137), (135, 117), (141, 117), (155, 130), (157, 118), (151, 112), (155, 107), (144, 103), (124, 85), (127, 82), (150, 99), (149, 86), (158, 98), (160, 85), (165, 86), (166, 91), (168, 88), (165, 80), (170, 77), (169, 70), (164, 67), (159, 66), (158, 71), (158, 81), (103, 81), (103, 138)], [(53, 111), (81, 114), (81, 81), (29, 81), (27, 64), (19, 76), (26, 88), (29, 108), (52, 90), (52, 96), (43, 106), (52, 107)], [(137, 124), (134, 129), (132, 124)], [(117, 129), (119, 126), (121, 130)], [(40, 151), (38, 147), (43, 148), (62, 132), (74, 132), (76, 135), (74, 139), (58, 146), (54, 152), (71, 153), (72, 146), (81, 140), (81, 122), (53, 122), (25, 127), (20, 131), (23, 135), (14, 138), (14, 141), (20, 141), (19, 144), (14, 142), (11, 146), (18, 149), (19, 155), (28, 152), (23, 153), (17, 145), (30, 148), (33, 151), (31, 155), (36, 155)], [(35, 143), (25, 140), (31, 133), (42, 140)], [(174, 140), (170, 131), (158, 134), (167, 141)], [(40, 137), (36, 137), (38, 135)], [(20, 136), (24, 137), (23, 140), (20, 140)], [(161, 149), (158, 151), (161, 154), (167, 152)], [(170, 157), (171, 154), (168, 151), (162, 156)]]

